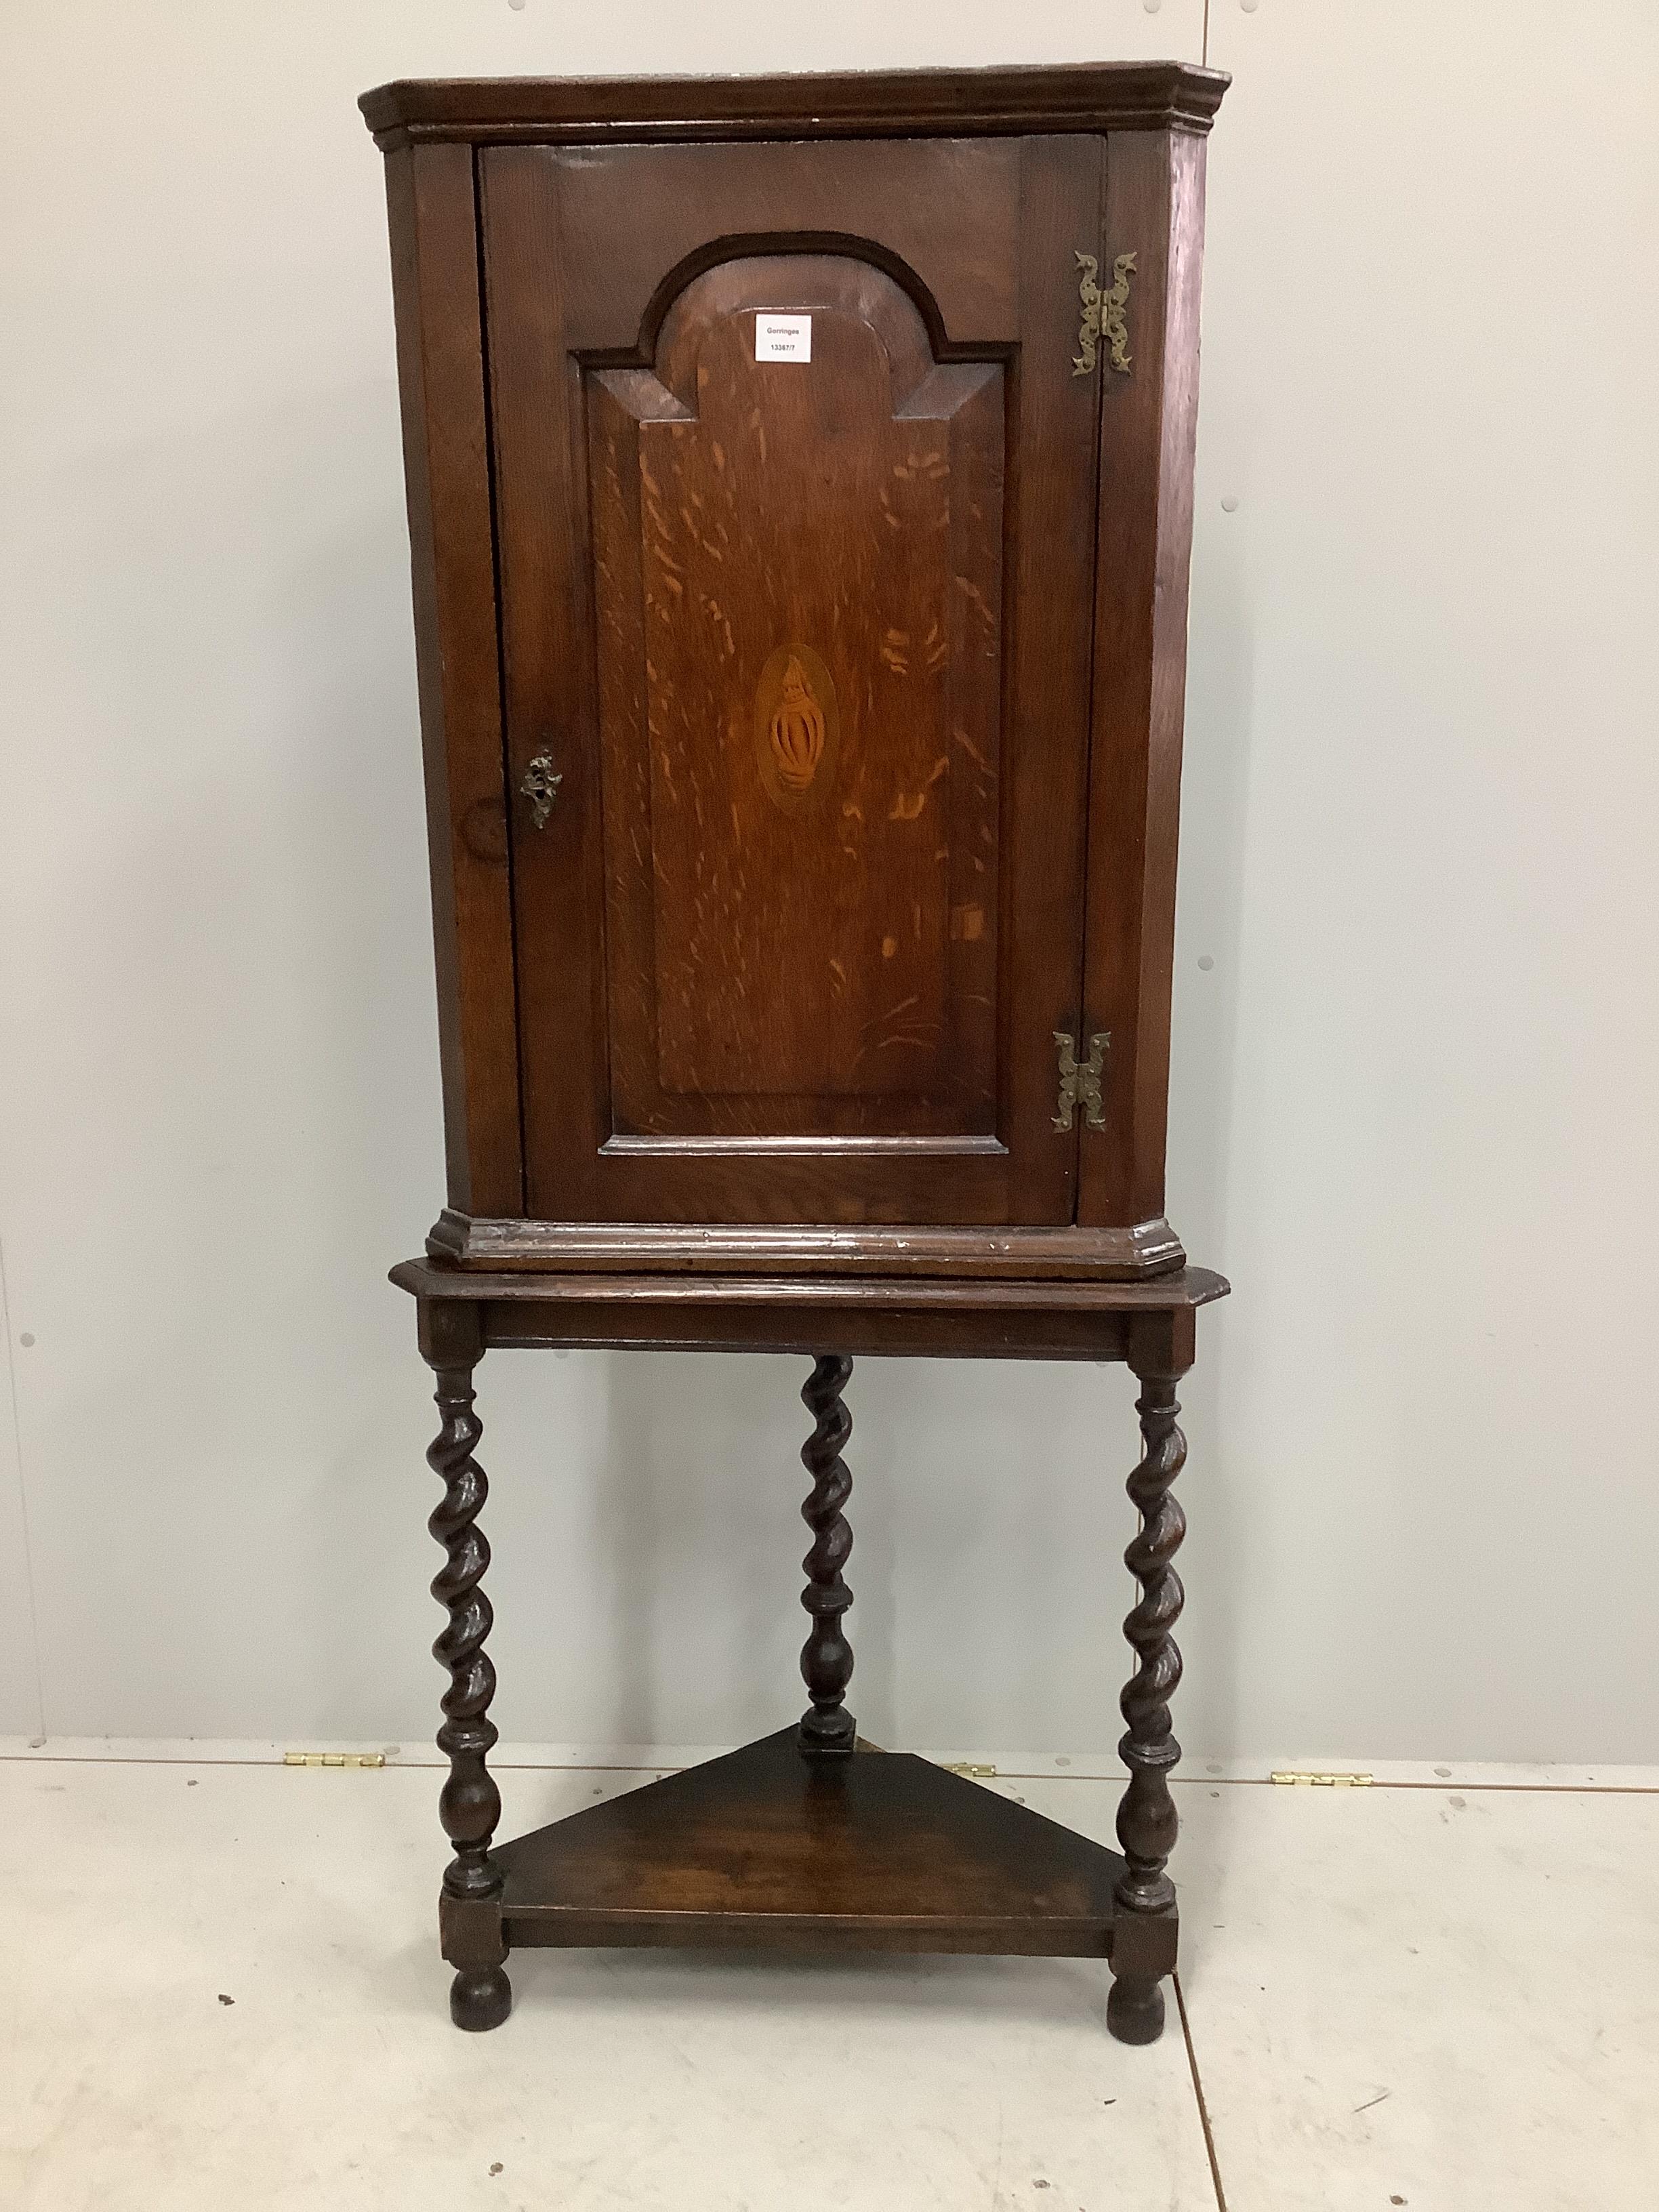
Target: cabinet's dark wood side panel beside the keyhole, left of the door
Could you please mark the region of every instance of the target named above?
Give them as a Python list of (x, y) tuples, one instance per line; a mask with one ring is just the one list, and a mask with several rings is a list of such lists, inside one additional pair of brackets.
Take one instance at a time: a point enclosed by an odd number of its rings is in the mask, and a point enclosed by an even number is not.
[(392, 153), (387, 217), (449, 1203), (518, 1214), (513, 914), (471, 148)]

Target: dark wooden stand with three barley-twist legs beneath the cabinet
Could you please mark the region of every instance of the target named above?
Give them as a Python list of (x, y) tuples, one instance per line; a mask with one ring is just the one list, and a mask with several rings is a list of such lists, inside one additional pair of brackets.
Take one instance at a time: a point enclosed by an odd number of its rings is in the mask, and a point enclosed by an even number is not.
[[(1113, 2035), (1128, 2044), (1159, 2035), (1161, 1980), (1177, 1949), (1166, 1863), (1181, 1655), (1170, 1630), (1186, 1522), (1170, 1484), (1186, 1440), (1175, 1389), (1192, 1365), (1197, 1307), (1228, 1290), (1221, 1276), (1188, 1267), (1141, 1283), (734, 1281), (482, 1274), (407, 1261), (392, 1281), (418, 1303), (442, 1413), (427, 1460), (445, 1482), (431, 1533), (447, 1557), (431, 1588), (449, 1610), (434, 1650), (449, 1668), (438, 1745), (449, 1756), (440, 1818), (453, 1858), (440, 1929), (458, 2026), (507, 2020), (513, 1947), (754, 1944), (1106, 1958)], [(796, 1728), (495, 1845), (489, 1544), (478, 1526), (487, 1482), (473, 1458), (482, 1427), (471, 1378), (489, 1347), (507, 1345), (812, 1356), (801, 1391), (814, 1416), (801, 1453), (812, 1475), (801, 1597), (812, 1630), (801, 1655), (810, 1703)], [(1121, 1856), (925, 1759), (858, 1739), (845, 1705), (852, 1478), (841, 1458), (854, 1354), (1124, 1360), (1139, 1378), (1144, 1455), (1128, 1480), (1139, 1531), (1124, 1557), (1141, 1597), (1124, 1624), (1137, 1668), (1121, 1697), (1119, 1752), (1130, 1772), (1117, 1814)]]

